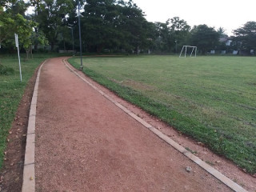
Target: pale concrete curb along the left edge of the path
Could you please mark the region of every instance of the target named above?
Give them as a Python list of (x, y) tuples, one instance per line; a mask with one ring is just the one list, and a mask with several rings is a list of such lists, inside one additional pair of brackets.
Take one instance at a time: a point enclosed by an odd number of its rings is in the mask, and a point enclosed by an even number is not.
[[(47, 61), (48, 59), (46, 59)], [(38, 85), (39, 78), (41, 74), (42, 66), (45, 62), (42, 62), (38, 70), (37, 79), (34, 85), (33, 97), (30, 104), (30, 116), (27, 126), (26, 133), (26, 151), (24, 160), (24, 170), (23, 170), (23, 182), (22, 182), (22, 192), (34, 192), (35, 191), (35, 172), (34, 172), (34, 148), (35, 148), (35, 116), (37, 110), (37, 100), (38, 100)]]

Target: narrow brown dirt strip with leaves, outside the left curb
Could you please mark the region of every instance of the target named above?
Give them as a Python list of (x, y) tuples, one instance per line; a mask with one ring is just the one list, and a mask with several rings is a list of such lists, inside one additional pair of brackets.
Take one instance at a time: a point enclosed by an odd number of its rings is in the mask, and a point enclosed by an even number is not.
[(24, 155), (26, 149), (26, 130), (30, 113), (30, 102), (33, 95), (34, 83), (38, 74), (35, 71), (26, 86), (19, 103), (14, 122), (7, 138), (4, 163), (0, 170), (0, 191), (22, 191)]

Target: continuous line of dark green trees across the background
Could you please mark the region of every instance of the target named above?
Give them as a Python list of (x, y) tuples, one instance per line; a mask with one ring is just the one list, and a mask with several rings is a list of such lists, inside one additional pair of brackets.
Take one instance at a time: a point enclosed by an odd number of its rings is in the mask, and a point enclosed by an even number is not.
[[(220, 27), (206, 24), (189, 26), (181, 18), (166, 22), (148, 22), (132, 0), (80, 0), (82, 5), (82, 51), (102, 53), (178, 53), (183, 45), (198, 46), (201, 54), (210, 50), (240, 50), (250, 53), (256, 49), (256, 22), (246, 22), (233, 31), (230, 46), (220, 39), (229, 38)], [(33, 14), (26, 14), (29, 6)], [(27, 56), (34, 51), (78, 50), (78, 1), (76, 0), (2, 0), (0, 2), (1, 51), (14, 50), (14, 33), (18, 34)]]

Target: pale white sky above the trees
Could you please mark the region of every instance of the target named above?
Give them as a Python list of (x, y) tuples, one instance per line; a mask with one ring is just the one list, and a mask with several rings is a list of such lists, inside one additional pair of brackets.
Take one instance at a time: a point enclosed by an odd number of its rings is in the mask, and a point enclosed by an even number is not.
[(146, 14), (149, 22), (166, 22), (168, 18), (179, 17), (191, 27), (201, 24), (218, 29), (226, 34), (243, 26), (246, 22), (256, 22), (256, 0), (133, 0)]

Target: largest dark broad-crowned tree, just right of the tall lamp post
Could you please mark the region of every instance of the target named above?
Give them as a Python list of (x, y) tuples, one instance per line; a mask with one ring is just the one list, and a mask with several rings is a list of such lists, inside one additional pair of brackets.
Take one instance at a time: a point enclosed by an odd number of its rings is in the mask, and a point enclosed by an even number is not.
[(82, 38), (90, 51), (139, 50), (150, 46), (149, 25), (132, 1), (87, 0)]

